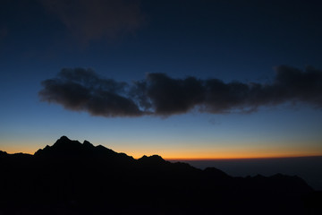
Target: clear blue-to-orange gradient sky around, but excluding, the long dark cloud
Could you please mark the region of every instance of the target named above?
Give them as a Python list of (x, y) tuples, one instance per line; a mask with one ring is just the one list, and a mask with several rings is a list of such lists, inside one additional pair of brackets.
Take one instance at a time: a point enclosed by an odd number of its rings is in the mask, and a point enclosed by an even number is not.
[(322, 155), (322, 106), (311, 103), (105, 117), (38, 96), (41, 82), (63, 68), (128, 83), (165, 73), (264, 84), (280, 65), (322, 73), (321, 10), (318, 1), (296, 0), (3, 0), (0, 150), (34, 153), (66, 135), (134, 158)]

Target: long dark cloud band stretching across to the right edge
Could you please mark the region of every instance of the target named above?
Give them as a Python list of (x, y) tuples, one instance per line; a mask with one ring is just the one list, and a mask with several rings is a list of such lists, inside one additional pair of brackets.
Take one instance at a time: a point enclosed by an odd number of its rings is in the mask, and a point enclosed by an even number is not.
[(270, 83), (225, 83), (196, 77), (173, 79), (165, 73), (148, 73), (137, 82), (115, 82), (90, 69), (63, 69), (42, 82), (40, 99), (93, 116), (171, 116), (191, 110), (222, 114), (253, 112), (258, 107), (284, 102), (305, 102), (322, 107), (322, 71), (305, 71), (281, 65)]

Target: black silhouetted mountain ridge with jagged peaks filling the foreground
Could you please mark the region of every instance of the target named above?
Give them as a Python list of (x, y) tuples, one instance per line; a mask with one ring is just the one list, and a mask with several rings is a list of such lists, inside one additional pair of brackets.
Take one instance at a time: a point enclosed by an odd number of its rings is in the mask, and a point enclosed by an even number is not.
[(0, 151), (0, 214), (320, 214), (300, 177), (232, 177), (63, 136), (34, 155)]

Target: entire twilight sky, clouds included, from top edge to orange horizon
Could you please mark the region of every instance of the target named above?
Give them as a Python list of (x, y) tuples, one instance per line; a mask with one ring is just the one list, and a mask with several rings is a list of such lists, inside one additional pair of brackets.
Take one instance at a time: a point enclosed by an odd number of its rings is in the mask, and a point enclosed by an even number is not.
[(0, 150), (322, 155), (318, 1), (2, 0)]

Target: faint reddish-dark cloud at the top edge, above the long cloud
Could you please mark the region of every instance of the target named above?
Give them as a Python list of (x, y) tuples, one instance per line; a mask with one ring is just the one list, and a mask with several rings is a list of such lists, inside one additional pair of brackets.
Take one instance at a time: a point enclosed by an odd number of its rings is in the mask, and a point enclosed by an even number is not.
[(82, 42), (114, 39), (140, 27), (139, 0), (38, 0)]

